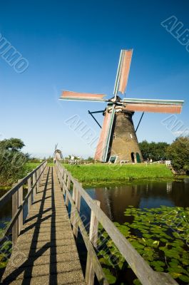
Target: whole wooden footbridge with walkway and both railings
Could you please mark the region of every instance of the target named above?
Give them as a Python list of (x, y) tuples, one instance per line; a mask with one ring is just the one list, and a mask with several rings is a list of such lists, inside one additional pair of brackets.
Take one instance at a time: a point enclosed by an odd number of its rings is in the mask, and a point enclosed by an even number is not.
[[(24, 197), (24, 187), (27, 194)], [(83, 225), (81, 198), (91, 209), (89, 233)], [(1, 284), (108, 284), (96, 253), (98, 222), (144, 285), (175, 285), (169, 274), (155, 272), (91, 199), (81, 184), (56, 162), (43, 162), (0, 199), (0, 207), (12, 199), (12, 219), (1, 244), (11, 233), (13, 252)], [(71, 214), (68, 214), (68, 204)], [(27, 216), (24, 219), (24, 209)], [(78, 230), (87, 249), (85, 274), (76, 247)]]

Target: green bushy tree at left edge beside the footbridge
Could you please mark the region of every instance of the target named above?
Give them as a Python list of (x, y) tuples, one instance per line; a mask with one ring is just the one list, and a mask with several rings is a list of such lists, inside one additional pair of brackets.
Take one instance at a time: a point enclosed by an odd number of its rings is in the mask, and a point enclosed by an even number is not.
[(24, 142), (17, 138), (0, 141), (0, 185), (11, 185), (25, 175), (28, 154), (21, 152)]

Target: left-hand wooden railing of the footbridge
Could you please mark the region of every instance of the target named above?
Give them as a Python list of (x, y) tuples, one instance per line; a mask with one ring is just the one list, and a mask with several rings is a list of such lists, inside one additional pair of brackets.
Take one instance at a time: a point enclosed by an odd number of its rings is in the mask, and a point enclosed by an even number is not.
[[(0, 198), (0, 209), (6, 204), (6, 202), (12, 200), (11, 221), (4, 229), (3, 234), (1, 234), (0, 244), (4, 242), (11, 232), (13, 246), (16, 243), (16, 239), (19, 237), (24, 223), (24, 205), (27, 204), (29, 213), (31, 204), (34, 202), (36, 192), (39, 189), (39, 183), (44, 175), (46, 165), (46, 161), (42, 162), (41, 165), (32, 170), (28, 175), (26, 175), (26, 177), (20, 179), (8, 192), (6, 192), (4, 196)], [(24, 197), (25, 185), (27, 187), (26, 197)]]

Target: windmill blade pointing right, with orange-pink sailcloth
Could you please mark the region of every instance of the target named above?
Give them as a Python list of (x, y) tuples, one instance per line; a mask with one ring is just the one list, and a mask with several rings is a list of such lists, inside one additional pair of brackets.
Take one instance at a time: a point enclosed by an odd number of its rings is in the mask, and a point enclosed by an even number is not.
[(126, 110), (153, 113), (179, 114), (183, 107), (183, 100), (156, 100), (156, 99), (130, 99), (124, 98)]

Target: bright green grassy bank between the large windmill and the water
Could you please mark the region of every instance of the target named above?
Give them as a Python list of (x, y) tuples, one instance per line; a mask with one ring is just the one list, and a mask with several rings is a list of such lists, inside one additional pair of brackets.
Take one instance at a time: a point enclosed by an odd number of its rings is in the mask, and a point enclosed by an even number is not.
[(73, 177), (84, 184), (124, 182), (140, 179), (173, 178), (165, 165), (64, 165)]

